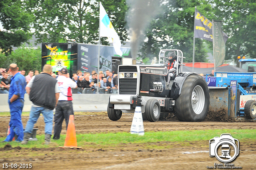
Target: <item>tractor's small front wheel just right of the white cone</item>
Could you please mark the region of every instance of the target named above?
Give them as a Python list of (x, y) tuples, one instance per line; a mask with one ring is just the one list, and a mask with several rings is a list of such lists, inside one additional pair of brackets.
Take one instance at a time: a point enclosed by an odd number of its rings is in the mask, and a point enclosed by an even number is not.
[(160, 117), (160, 104), (156, 99), (149, 99), (145, 106), (145, 114), (150, 122), (158, 121)]

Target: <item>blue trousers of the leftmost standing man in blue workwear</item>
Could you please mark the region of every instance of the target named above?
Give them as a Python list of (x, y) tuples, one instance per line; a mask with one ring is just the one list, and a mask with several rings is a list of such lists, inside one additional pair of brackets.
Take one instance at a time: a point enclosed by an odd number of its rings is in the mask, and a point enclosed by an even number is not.
[(6, 137), (4, 141), (10, 142), (12, 141), (14, 135), (17, 135), (16, 141), (22, 141), (23, 140), (23, 125), (21, 121), (21, 113), (24, 106), (24, 100), (18, 98), (14, 102), (10, 103), (9, 100), (9, 106), (10, 106), (10, 112), (11, 112), (11, 119), (10, 119), (10, 134)]

